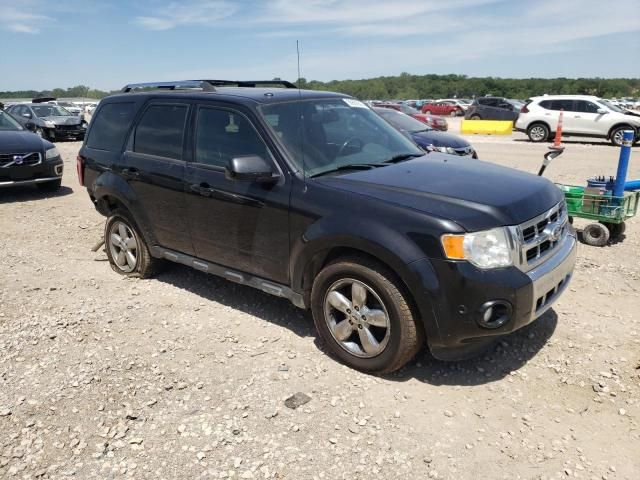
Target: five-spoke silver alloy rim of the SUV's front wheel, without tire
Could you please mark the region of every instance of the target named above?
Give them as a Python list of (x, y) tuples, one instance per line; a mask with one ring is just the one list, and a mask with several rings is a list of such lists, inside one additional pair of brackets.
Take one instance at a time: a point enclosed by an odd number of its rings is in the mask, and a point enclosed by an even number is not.
[(389, 342), (387, 308), (380, 296), (359, 280), (345, 278), (329, 287), (324, 318), (336, 342), (357, 357), (375, 357)]

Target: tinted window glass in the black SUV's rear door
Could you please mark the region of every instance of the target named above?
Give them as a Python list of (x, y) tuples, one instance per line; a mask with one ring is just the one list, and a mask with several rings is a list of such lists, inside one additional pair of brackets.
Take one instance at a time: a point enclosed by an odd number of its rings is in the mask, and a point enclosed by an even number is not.
[(136, 127), (133, 151), (182, 159), (186, 105), (151, 105)]

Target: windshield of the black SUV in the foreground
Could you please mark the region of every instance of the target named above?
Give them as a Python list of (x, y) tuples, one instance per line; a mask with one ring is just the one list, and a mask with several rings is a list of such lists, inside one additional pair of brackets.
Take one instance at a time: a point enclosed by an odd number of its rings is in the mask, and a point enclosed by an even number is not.
[(364, 103), (352, 98), (277, 103), (263, 106), (261, 112), (296, 167), (310, 176), (424, 153)]

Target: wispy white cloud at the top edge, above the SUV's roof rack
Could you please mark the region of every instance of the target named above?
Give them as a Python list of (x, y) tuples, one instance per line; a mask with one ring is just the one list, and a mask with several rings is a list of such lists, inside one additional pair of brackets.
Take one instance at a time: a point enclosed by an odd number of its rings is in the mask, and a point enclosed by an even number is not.
[(187, 0), (154, 5), (154, 14), (138, 16), (135, 23), (148, 30), (170, 30), (188, 25), (213, 26), (237, 11), (237, 7), (226, 0)]

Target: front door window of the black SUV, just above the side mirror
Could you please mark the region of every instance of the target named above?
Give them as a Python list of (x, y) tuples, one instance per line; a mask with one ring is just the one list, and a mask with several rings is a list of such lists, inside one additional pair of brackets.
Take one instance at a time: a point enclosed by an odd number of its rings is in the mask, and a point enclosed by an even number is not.
[(267, 147), (243, 115), (228, 110), (201, 108), (196, 127), (195, 161), (226, 167), (234, 157), (267, 158)]

